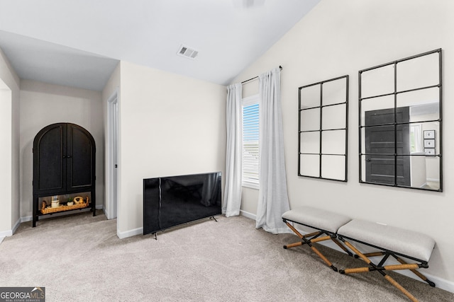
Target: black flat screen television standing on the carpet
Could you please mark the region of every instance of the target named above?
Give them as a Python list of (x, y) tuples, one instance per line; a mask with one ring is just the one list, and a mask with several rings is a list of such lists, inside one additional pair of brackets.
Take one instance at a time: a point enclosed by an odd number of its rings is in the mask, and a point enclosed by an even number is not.
[(221, 172), (143, 180), (143, 235), (221, 214)]

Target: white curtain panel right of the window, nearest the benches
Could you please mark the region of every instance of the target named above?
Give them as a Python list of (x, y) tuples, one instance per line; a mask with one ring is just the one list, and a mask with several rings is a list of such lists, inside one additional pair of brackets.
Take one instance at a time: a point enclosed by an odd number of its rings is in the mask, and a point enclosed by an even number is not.
[(282, 221), (288, 211), (282, 133), (281, 72), (267, 71), (260, 79), (260, 185), (255, 227), (270, 233), (291, 233)]

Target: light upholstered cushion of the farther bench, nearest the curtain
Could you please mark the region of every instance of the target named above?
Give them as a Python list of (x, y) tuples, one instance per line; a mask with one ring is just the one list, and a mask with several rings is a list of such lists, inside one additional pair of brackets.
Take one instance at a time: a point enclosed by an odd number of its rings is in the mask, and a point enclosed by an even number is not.
[(286, 211), (282, 218), (331, 233), (336, 233), (338, 228), (351, 220), (348, 216), (305, 206)]

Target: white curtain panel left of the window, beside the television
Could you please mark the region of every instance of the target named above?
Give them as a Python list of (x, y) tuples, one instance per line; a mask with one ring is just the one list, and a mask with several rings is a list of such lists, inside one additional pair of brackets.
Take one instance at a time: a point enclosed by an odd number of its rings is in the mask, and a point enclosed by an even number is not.
[(222, 213), (238, 216), (241, 206), (241, 182), (243, 170), (243, 110), (241, 106), (240, 83), (227, 88), (227, 149), (226, 149), (226, 187)]

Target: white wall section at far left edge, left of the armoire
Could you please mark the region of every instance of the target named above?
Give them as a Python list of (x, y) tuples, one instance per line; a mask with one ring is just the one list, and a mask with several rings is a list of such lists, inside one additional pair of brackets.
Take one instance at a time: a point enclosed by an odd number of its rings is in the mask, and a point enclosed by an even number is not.
[(19, 85), (0, 49), (0, 237), (11, 236), (19, 223)]

